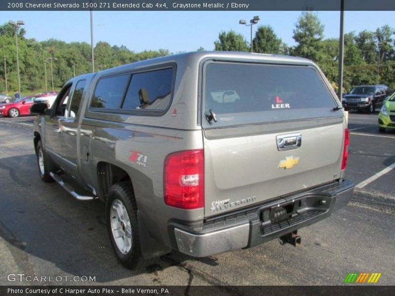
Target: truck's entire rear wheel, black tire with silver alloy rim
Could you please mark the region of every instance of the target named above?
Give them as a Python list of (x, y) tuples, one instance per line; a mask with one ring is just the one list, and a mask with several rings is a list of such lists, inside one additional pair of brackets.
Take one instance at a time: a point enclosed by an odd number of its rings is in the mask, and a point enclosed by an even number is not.
[(107, 229), (119, 261), (129, 269), (147, 264), (140, 249), (137, 207), (132, 184), (120, 182), (111, 186), (106, 200)]

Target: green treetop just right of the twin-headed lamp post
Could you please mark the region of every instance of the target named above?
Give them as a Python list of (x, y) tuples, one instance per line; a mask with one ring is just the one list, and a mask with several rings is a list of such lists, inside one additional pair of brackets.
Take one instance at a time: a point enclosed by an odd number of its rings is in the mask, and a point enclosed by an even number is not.
[(252, 40), (254, 52), (279, 54), (282, 41), (271, 26), (260, 26)]

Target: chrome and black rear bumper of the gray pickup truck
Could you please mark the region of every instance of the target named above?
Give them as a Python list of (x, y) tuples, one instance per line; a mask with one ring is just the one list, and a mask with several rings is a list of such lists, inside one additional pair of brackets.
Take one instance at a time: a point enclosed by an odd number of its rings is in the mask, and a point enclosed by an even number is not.
[[(178, 250), (194, 257), (248, 248), (329, 217), (348, 204), (353, 188), (351, 181), (344, 180), (250, 207), (199, 227), (173, 223), (171, 229)], [(276, 217), (279, 209), (287, 212), (280, 218)]]

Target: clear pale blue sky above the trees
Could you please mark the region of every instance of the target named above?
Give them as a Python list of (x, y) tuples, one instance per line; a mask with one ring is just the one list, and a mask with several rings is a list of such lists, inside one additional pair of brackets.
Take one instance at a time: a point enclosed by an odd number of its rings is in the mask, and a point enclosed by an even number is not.
[[(324, 38), (338, 38), (339, 11), (318, 11), (325, 26)], [(168, 49), (170, 52), (195, 51), (200, 46), (214, 49), (221, 31), (234, 30), (250, 41), (250, 27), (239, 25), (240, 19), (260, 17), (259, 25), (270, 25), (277, 37), (289, 46), (300, 11), (94, 11), (94, 43), (106, 41), (125, 45), (129, 50)], [(90, 44), (89, 11), (0, 11), (0, 24), (23, 20), (27, 38), (38, 41), (50, 38)], [(345, 11), (345, 33), (356, 33), (389, 25), (395, 28), (394, 11)], [(253, 34), (258, 26), (253, 26)]]

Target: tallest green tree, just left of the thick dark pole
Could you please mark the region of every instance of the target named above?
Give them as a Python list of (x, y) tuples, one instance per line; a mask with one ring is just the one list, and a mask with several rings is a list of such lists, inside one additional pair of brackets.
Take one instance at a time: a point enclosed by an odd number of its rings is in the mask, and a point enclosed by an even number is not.
[(302, 12), (293, 30), (293, 38), (298, 43), (293, 53), (314, 61), (319, 60), (321, 40), (324, 26), (321, 25), (316, 13)]

